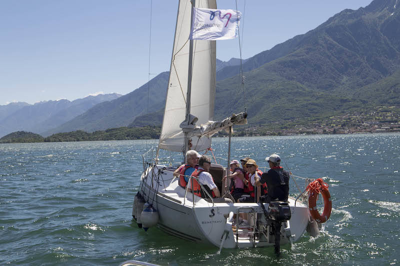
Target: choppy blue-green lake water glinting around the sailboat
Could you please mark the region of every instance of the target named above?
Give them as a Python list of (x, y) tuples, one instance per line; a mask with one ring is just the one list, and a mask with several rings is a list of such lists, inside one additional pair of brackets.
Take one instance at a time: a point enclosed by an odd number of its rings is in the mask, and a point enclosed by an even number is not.
[[(232, 139), (232, 159), (250, 156), (265, 166), (265, 156), (274, 152), (293, 174), (323, 177), (329, 184), (333, 209), (324, 231), (317, 238), (305, 233), (292, 247), (283, 246), (279, 259), (265, 248), (217, 255), (213, 246), (138, 229), (131, 204), (143, 168), (141, 154), (155, 144), (0, 144), (0, 265), (118, 265), (132, 259), (232, 266), (400, 261), (400, 134)], [(215, 138), (213, 149), (216, 157), (226, 158), (227, 138)], [(296, 181), (303, 188), (303, 180)]]

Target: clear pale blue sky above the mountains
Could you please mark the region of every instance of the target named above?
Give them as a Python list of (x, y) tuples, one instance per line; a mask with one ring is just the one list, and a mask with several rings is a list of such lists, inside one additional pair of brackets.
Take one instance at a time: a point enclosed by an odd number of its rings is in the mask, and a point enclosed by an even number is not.
[[(370, 1), (237, 0), (242, 58)], [(177, 0), (0, 0), (0, 105), (133, 91), (169, 70), (176, 8)], [(239, 56), (238, 39), (217, 42), (218, 59)]]

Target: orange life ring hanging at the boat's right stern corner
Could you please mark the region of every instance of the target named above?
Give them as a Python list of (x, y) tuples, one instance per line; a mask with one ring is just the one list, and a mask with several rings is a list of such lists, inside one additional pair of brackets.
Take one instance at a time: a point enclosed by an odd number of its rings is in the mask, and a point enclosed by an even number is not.
[[(318, 178), (312, 181), (308, 186), (308, 208), (309, 212), (318, 223), (325, 223), (330, 216), (330, 212), (332, 210), (332, 201), (330, 200), (330, 193), (328, 191), (328, 185), (322, 181), (322, 179)], [(323, 197), (323, 213), (319, 214), (316, 209), (316, 200), (318, 198), (319, 193), (322, 194)]]

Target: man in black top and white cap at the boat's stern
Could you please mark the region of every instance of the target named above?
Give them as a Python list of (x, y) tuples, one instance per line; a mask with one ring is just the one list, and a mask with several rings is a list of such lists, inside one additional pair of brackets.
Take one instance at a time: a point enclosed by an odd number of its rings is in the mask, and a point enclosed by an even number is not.
[(264, 184), (268, 187), (266, 202), (273, 200), (287, 201), (289, 197), (289, 172), (283, 170), (280, 164), (280, 157), (277, 154), (271, 154), (265, 158), (270, 169), (261, 175), (257, 184)]

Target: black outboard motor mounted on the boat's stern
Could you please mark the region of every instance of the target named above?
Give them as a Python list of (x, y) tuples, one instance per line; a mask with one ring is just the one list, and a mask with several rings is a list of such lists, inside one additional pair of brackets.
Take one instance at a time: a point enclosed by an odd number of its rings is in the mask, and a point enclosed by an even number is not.
[(264, 212), (267, 225), (270, 226), (271, 232), (268, 234), (273, 235), (275, 238), (275, 254), (280, 255), (280, 228), (282, 223), (289, 221), (291, 217), (290, 207), (287, 203), (282, 201), (270, 201), (268, 210), (265, 210), (264, 202), (265, 196), (259, 198), (261, 208)]

